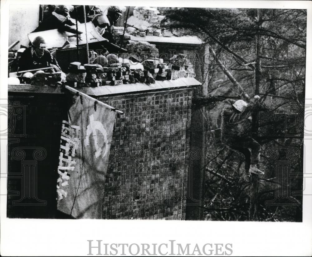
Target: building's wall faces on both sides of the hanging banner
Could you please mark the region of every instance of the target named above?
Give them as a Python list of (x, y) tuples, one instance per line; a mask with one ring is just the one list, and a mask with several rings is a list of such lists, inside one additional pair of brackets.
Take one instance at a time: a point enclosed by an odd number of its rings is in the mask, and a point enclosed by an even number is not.
[[(124, 115), (116, 115), (103, 219), (184, 220), (188, 216), (187, 192), (196, 175), (192, 169), (201, 157), (190, 140), (192, 96), (193, 88), (175, 88), (97, 97), (124, 111)], [(9, 99), (24, 108), (25, 120), (20, 124), (14, 118), (16, 128), (8, 141), (11, 191), (7, 217), (70, 218), (56, 210), (61, 121), (67, 115), (68, 99), (64, 94), (41, 93), (10, 93)], [(34, 159), (34, 151), (40, 149), (45, 151), (44, 158)], [(16, 150), (24, 151), (26, 157), (20, 159)], [(23, 198), (22, 172), (26, 164), (30, 167), (27, 160), (36, 171), (37, 197), (45, 204), (33, 205), (36, 199), (26, 199), (22, 205), (13, 203)]]

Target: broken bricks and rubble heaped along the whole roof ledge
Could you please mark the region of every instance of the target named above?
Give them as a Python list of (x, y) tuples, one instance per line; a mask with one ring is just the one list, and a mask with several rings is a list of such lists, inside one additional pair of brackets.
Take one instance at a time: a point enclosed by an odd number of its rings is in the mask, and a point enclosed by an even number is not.
[[(138, 42), (136, 42), (138, 43)], [(126, 59), (126, 56), (113, 58), (112, 56), (98, 56), (93, 64), (81, 65), (80, 62), (72, 62), (69, 65), (68, 73), (62, 72), (45, 73), (42, 70), (37, 71), (31, 78), (33, 85), (58, 86), (66, 83), (71, 87), (99, 87), (115, 86), (120, 84), (147, 83), (154, 84), (156, 80), (175, 80), (179, 78), (195, 78), (193, 65), (188, 63), (187, 56), (183, 54), (174, 55), (164, 63), (163, 59), (158, 58), (158, 49), (152, 44), (134, 44), (137, 52), (143, 53), (143, 50), (154, 50), (154, 58), (143, 59), (142, 63), (136, 60)], [(147, 48), (144, 48), (147, 47)], [(144, 56), (144, 55), (142, 55)], [(147, 55), (147, 56), (150, 56)], [(111, 58), (109, 58), (111, 57)], [(21, 82), (27, 83), (20, 77)]]

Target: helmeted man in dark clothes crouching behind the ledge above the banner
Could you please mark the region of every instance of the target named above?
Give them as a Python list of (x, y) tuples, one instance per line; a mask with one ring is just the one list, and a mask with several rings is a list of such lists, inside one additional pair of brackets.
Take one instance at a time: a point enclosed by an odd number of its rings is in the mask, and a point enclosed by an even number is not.
[(56, 59), (46, 49), (46, 42), (43, 37), (37, 36), (31, 45), (22, 53), (19, 59), (19, 71), (46, 67), (51, 67), (55, 71), (61, 71)]

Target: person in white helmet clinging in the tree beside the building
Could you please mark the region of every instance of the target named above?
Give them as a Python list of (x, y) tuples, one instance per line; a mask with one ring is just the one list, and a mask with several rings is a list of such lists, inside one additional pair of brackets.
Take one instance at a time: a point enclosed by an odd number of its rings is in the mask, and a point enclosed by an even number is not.
[(249, 104), (244, 100), (237, 100), (223, 108), (221, 142), (245, 156), (245, 161), (250, 162), (249, 173), (261, 175), (264, 172), (257, 167), (261, 145), (251, 137), (251, 114), (259, 99), (260, 97), (256, 95)]

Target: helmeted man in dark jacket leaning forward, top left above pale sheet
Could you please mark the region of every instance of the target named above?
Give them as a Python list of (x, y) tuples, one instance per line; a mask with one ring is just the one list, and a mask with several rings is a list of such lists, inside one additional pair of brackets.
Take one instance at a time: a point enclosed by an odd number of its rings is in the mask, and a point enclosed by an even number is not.
[[(54, 12), (51, 12), (51, 15), (43, 20), (39, 26), (32, 32), (46, 31), (59, 29), (61, 31), (69, 31), (76, 22), (70, 17), (69, 12), (74, 7), (72, 5), (57, 5)], [(75, 33), (75, 30), (72, 31)]]

